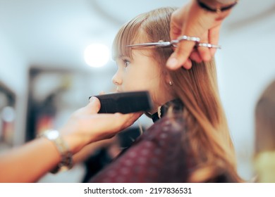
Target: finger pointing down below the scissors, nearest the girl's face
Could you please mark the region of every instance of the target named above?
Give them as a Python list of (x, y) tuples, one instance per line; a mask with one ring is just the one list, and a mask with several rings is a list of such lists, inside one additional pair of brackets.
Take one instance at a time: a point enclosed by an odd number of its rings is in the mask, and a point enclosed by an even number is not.
[[(172, 53), (170, 58), (168, 59), (166, 66), (171, 70), (176, 70), (178, 68), (185, 68), (185, 62), (188, 60), (193, 47), (195, 46), (195, 42), (192, 41), (181, 41), (176, 50)], [(188, 69), (188, 68), (186, 68)]]

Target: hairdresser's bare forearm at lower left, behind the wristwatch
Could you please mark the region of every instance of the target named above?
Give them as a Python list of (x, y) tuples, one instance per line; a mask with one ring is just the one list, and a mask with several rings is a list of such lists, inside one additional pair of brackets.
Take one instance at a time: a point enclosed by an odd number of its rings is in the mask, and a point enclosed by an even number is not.
[(35, 139), (0, 156), (0, 182), (36, 182), (61, 160), (48, 139)]

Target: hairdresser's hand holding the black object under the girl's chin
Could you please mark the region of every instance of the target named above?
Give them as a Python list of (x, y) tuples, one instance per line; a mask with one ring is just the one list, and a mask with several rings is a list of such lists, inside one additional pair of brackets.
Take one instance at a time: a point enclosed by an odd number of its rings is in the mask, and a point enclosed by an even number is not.
[(99, 99), (92, 97), (84, 108), (75, 111), (60, 132), (73, 153), (94, 141), (109, 139), (122, 129), (133, 125), (142, 113), (97, 114)]

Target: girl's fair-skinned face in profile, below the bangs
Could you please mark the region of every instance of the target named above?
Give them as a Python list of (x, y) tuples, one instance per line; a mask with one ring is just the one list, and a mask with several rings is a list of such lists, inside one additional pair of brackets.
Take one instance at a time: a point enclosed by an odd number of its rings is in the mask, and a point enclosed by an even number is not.
[[(160, 65), (154, 61), (152, 54), (145, 50), (132, 50), (133, 57), (121, 56), (116, 59), (118, 70), (112, 78), (117, 91), (149, 91), (154, 109), (166, 102)], [(162, 82), (161, 82), (162, 80)]]

